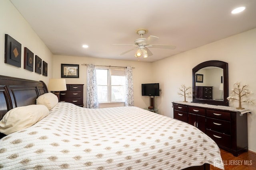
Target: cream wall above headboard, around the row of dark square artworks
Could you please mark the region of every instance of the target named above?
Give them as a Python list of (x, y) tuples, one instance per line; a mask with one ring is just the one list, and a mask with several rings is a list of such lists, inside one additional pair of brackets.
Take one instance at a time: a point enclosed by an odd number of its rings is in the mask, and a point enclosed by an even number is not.
[[(43, 80), (48, 84), (49, 78), (52, 77), (53, 55), (10, 0), (0, 0), (0, 24), (0, 74), (30, 80)], [(22, 45), (21, 68), (4, 63), (5, 34), (10, 35)], [(24, 69), (24, 47), (30, 49), (34, 55), (38, 55), (42, 61), (48, 64), (47, 77)]]

